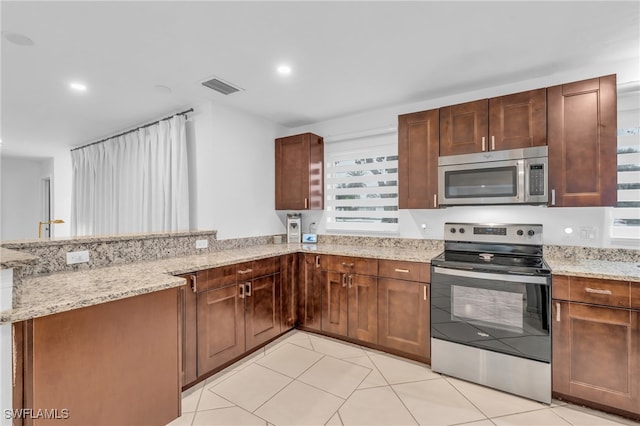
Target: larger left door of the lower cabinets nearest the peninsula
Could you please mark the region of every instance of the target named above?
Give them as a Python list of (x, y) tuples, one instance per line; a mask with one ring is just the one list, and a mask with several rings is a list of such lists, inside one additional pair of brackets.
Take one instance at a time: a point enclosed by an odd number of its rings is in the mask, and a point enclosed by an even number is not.
[(198, 375), (245, 350), (244, 299), (232, 285), (198, 294)]

